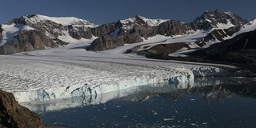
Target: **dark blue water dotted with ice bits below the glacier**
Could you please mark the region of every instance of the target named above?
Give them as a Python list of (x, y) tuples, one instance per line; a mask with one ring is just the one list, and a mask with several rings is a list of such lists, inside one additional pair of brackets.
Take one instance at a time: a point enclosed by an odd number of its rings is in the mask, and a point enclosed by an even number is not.
[[(65, 127), (256, 127), (254, 79), (193, 87), (143, 86), (98, 96), (24, 105)], [(201, 85), (200, 85), (201, 84)]]

